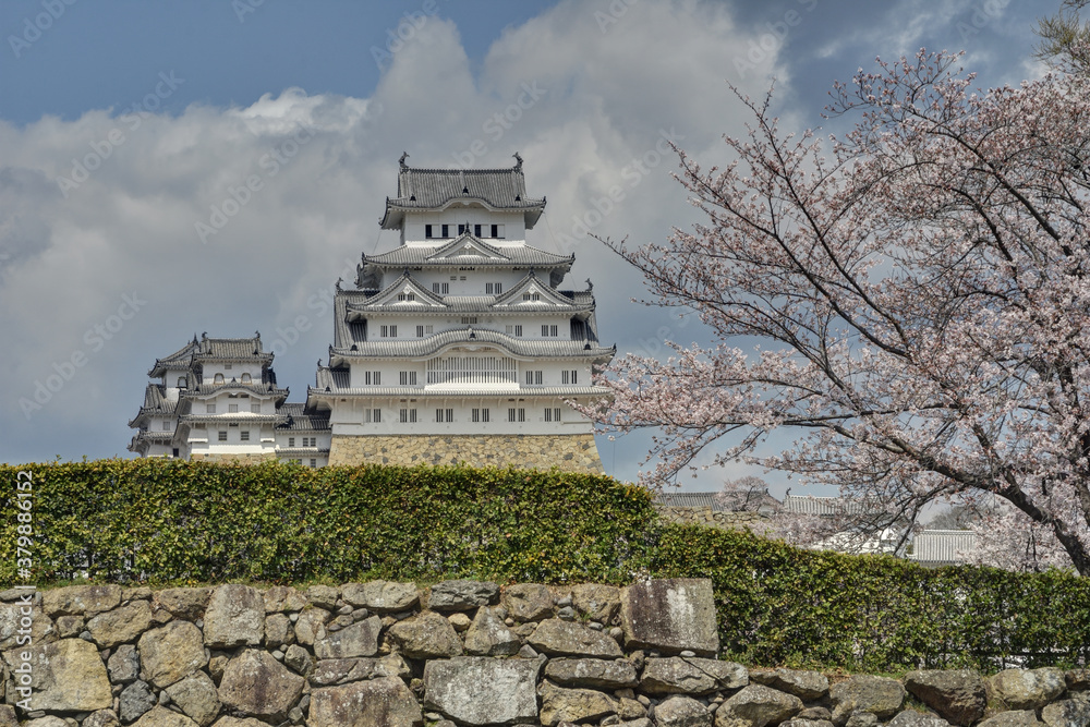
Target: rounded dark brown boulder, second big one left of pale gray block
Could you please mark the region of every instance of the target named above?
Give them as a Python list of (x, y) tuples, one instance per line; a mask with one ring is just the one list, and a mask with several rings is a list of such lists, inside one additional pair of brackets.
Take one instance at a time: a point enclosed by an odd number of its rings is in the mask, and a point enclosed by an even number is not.
[(305, 679), (265, 651), (249, 649), (230, 661), (219, 683), (223, 706), (271, 722), (287, 718)]

